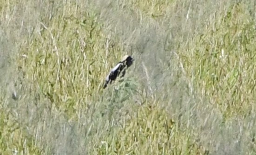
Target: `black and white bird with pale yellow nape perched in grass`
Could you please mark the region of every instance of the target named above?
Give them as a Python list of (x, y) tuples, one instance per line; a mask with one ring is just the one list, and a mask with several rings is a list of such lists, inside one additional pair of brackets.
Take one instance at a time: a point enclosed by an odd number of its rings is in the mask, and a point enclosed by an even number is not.
[(124, 77), (126, 73), (126, 69), (129, 68), (134, 61), (134, 58), (131, 58), (129, 55), (125, 55), (118, 64), (111, 69), (109, 74), (107, 75), (105, 79), (104, 89), (107, 87), (107, 85), (110, 83), (112, 84), (113, 81), (116, 80), (116, 78), (120, 75), (122, 72), (122, 75), (120, 77)]

